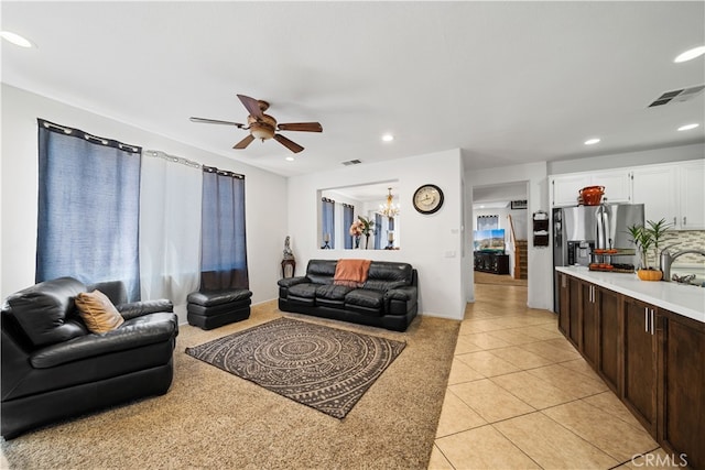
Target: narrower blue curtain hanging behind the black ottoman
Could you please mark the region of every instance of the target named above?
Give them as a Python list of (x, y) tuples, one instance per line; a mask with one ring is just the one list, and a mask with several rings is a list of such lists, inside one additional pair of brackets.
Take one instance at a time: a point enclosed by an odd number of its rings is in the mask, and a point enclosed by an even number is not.
[(203, 167), (200, 289), (249, 288), (245, 176)]

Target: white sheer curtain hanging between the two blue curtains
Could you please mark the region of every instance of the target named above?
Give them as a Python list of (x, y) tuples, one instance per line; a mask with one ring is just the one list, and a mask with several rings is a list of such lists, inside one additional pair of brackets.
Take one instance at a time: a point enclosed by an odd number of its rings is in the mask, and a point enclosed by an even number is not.
[(142, 299), (169, 298), (181, 307), (200, 282), (200, 165), (145, 151), (141, 176)]

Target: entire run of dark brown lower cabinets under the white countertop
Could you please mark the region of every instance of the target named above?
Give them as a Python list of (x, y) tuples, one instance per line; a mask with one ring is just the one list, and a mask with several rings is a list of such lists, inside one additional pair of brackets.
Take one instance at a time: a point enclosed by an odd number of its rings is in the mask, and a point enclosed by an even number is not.
[(705, 324), (560, 273), (558, 329), (676, 462), (705, 470)]

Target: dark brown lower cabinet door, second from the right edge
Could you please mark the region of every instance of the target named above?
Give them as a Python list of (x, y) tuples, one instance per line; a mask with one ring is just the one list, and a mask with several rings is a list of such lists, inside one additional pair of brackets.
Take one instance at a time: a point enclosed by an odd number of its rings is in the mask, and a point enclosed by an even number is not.
[(641, 424), (655, 437), (657, 430), (657, 337), (651, 305), (626, 297), (623, 303), (622, 400)]

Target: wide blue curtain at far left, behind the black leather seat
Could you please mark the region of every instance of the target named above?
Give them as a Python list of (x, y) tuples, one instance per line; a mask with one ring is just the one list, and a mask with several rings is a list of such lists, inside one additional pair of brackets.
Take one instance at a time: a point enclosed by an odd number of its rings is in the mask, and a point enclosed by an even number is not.
[(140, 298), (142, 149), (39, 123), (36, 282), (122, 281)]

